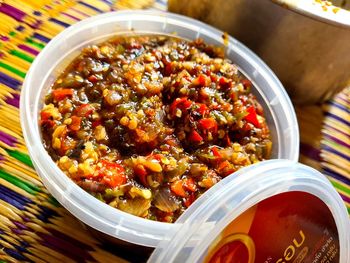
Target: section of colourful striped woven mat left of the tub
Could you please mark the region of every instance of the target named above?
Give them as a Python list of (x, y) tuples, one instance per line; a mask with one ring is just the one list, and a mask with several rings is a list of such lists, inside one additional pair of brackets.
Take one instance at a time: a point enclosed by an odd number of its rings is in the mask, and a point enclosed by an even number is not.
[(1, 262), (126, 262), (104, 250), (43, 187), (24, 144), (18, 109), (26, 72), (50, 39), (112, 7), (105, 0), (0, 4)]

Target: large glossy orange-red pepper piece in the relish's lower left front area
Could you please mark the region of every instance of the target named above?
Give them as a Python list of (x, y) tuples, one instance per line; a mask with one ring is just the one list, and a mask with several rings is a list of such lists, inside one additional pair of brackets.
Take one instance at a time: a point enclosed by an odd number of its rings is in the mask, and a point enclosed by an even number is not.
[(102, 164), (97, 171), (97, 178), (101, 178), (101, 183), (108, 187), (115, 188), (126, 183), (126, 175), (122, 165), (102, 160)]

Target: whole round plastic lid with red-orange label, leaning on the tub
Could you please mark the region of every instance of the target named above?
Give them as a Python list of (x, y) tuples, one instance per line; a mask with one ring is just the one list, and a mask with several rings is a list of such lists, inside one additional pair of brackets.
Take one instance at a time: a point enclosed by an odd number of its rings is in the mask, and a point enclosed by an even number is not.
[(270, 160), (206, 192), (148, 262), (348, 262), (350, 221), (325, 176)]

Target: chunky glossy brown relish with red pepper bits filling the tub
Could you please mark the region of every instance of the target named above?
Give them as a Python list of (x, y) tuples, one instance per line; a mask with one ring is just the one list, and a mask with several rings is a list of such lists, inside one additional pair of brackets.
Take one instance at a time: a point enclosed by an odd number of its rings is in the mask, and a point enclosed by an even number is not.
[(124, 212), (174, 222), (272, 142), (252, 83), (201, 39), (125, 36), (82, 50), (40, 112), (45, 148)]

